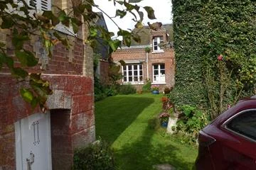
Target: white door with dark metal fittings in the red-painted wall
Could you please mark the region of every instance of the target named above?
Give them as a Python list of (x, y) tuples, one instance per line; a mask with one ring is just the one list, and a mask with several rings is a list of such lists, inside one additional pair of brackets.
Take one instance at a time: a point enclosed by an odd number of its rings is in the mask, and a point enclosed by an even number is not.
[(50, 170), (50, 113), (36, 113), (15, 123), (16, 169)]

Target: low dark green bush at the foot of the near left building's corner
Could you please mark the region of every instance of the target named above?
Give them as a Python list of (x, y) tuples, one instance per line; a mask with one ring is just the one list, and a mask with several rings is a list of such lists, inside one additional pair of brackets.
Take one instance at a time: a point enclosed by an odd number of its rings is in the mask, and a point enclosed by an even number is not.
[(114, 156), (107, 142), (98, 140), (89, 147), (75, 149), (74, 170), (113, 170)]

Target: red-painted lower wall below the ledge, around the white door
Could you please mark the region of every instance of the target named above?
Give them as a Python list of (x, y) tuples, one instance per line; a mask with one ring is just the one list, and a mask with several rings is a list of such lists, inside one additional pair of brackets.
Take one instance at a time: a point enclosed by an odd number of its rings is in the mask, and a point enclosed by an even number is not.
[[(69, 158), (69, 162), (63, 155), (72, 155), (73, 149), (81, 145), (87, 145), (95, 140), (95, 119), (94, 119), (94, 99), (93, 99), (93, 81), (90, 77), (68, 76), (68, 75), (43, 75), (44, 79), (48, 79), (54, 93), (48, 98), (49, 109), (65, 108), (69, 109), (70, 122), (65, 124), (67, 113), (58, 114), (58, 118), (54, 116), (51, 123), (52, 127), (52, 149), (53, 149), (53, 165), (58, 165), (56, 169), (70, 169), (73, 159)], [(18, 94), (16, 80), (11, 79), (7, 74), (0, 74), (0, 167), (2, 169), (15, 169), (15, 135), (14, 123), (33, 113), (31, 106), (23, 101)], [(66, 130), (69, 142), (60, 142), (60, 138), (56, 137), (55, 130), (60, 125)], [(55, 134), (55, 136), (54, 136)], [(64, 135), (64, 136), (65, 136)], [(65, 141), (65, 140), (64, 140)], [(63, 148), (56, 149), (57, 147)], [(68, 149), (68, 146), (70, 149)], [(63, 155), (62, 155), (63, 154)], [(57, 157), (57, 158), (56, 158)], [(65, 159), (66, 164), (60, 164)], [(56, 160), (58, 162), (56, 162)], [(67, 163), (69, 163), (67, 165)]]

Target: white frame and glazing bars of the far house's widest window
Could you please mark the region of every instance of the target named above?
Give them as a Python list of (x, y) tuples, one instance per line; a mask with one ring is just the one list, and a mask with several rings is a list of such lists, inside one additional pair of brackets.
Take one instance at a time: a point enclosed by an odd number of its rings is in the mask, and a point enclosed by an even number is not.
[[(129, 65), (132, 66), (132, 70), (129, 70), (128, 67)], [(137, 69), (134, 69), (134, 66), (137, 65)], [(142, 66), (142, 69), (139, 69), (139, 66)], [(124, 69), (124, 67), (126, 69)], [(132, 71), (132, 76), (129, 76), (129, 71)], [(139, 72), (142, 71), (142, 74), (139, 74)], [(126, 76), (124, 76), (124, 72), (126, 72)], [(134, 77), (136, 75), (134, 75), (134, 72), (137, 72), (137, 77), (138, 77), (138, 81), (134, 81)], [(144, 81), (143, 81), (143, 64), (141, 63), (138, 63), (138, 64), (127, 64), (125, 66), (122, 66), (122, 76), (123, 76), (123, 79), (122, 79), (122, 82), (124, 84), (144, 84)], [(126, 77), (126, 81), (124, 81), (124, 77)], [(132, 77), (132, 81), (129, 81), (129, 77)], [(142, 80), (140, 80), (140, 77), (142, 77)]]

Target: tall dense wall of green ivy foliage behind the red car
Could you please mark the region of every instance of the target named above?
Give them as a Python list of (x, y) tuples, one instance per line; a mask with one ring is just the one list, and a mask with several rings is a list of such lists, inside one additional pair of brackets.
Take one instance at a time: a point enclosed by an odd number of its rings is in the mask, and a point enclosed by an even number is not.
[(178, 105), (211, 118), (254, 93), (256, 2), (173, 0)]

